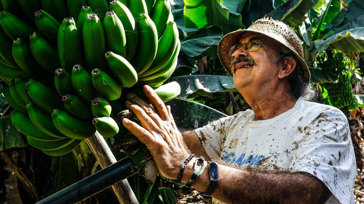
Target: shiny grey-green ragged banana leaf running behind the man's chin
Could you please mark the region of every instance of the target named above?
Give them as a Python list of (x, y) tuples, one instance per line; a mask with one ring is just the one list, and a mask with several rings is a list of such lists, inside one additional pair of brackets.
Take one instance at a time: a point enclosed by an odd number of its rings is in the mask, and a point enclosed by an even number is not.
[(238, 92), (234, 87), (233, 77), (218, 75), (189, 75), (173, 77), (181, 86), (179, 97), (194, 98), (198, 95), (212, 97), (217, 92)]

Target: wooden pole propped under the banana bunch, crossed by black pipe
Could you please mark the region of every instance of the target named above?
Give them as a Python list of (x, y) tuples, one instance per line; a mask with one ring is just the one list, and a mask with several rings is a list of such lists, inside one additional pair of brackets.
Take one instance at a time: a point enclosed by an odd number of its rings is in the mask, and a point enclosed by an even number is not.
[[(102, 168), (116, 162), (115, 156), (112, 154), (105, 139), (98, 132), (91, 138), (86, 139), (86, 142)], [(112, 189), (114, 189), (115, 195), (121, 204), (139, 204), (137, 197), (135, 197), (126, 179), (113, 185)]]

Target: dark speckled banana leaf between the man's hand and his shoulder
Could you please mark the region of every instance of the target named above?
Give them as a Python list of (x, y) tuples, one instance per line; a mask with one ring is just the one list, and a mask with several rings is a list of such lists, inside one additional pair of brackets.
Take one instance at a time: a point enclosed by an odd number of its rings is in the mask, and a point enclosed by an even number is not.
[[(186, 98), (174, 98), (166, 102), (171, 106), (171, 113), (178, 128), (194, 130), (227, 115)], [(183, 107), (183, 108), (181, 108)]]

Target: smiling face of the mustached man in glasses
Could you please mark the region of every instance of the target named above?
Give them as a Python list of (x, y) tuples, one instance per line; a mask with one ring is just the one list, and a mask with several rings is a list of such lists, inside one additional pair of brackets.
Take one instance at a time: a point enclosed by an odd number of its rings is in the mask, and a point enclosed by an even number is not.
[[(234, 86), (238, 90), (248, 85), (259, 89), (259, 87), (269, 83), (272, 79), (278, 79), (280, 68), (276, 66), (273, 59), (279, 54), (276, 50), (281, 50), (282, 46), (268, 37), (253, 33), (243, 34), (239, 43), (245, 44), (252, 40), (260, 40), (262, 42), (258, 50), (247, 52), (244, 45), (234, 52), (234, 61), (238, 62), (232, 65), (232, 69), (234, 69), (233, 79)], [(240, 61), (240, 57), (246, 58)], [(254, 64), (250, 66), (252, 63), (249, 61), (253, 61)]]

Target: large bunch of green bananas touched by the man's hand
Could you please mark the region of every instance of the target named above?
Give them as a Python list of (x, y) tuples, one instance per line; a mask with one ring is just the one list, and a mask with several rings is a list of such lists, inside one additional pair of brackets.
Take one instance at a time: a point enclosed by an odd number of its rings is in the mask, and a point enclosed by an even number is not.
[(163, 101), (180, 93), (163, 85), (180, 50), (169, 0), (1, 0), (0, 11), (3, 94), (15, 127), (47, 155), (96, 130), (118, 134), (113, 117), (127, 93), (146, 99), (143, 85)]

